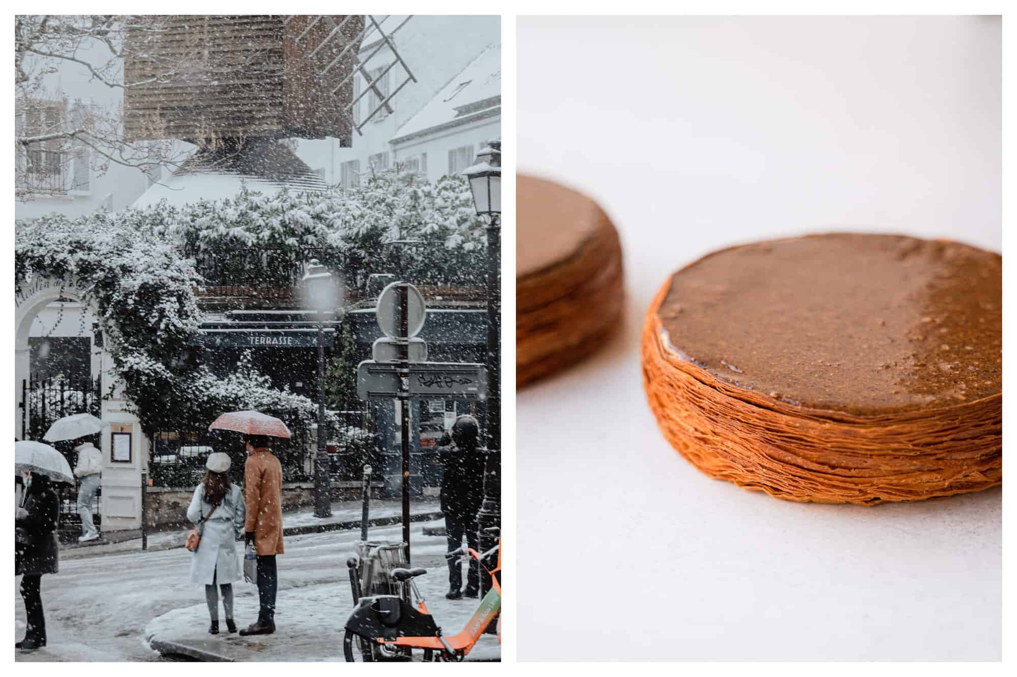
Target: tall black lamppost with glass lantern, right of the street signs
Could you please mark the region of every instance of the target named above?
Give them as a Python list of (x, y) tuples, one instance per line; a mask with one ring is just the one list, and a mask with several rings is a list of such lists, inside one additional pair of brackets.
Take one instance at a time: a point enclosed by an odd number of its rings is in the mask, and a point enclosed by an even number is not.
[[(497, 545), (487, 533), (501, 524), (501, 139), (488, 141), (477, 153), (477, 164), (463, 171), (470, 179), (473, 203), (487, 221), (487, 463), (484, 467), (484, 502), (477, 513), (480, 551)], [(481, 569), (483, 572), (483, 569)], [(481, 597), (491, 588), (490, 576), (481, 577)]]

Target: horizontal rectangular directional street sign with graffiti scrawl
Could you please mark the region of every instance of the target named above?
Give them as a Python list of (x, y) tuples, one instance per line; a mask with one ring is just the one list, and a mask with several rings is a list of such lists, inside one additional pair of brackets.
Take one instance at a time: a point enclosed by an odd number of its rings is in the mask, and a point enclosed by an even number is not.
[(400, 395), (483, 397), (486, 393), (487, 369), (482, 364), (398, 364), (365, 360), (357, 366), (357, 395), (361, 399), (388, 399)]

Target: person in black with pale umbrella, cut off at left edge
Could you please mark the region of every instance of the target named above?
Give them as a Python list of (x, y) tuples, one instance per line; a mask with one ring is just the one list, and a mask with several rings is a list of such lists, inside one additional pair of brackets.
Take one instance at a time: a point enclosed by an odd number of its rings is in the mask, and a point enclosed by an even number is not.
[(60, 501), (53, 482), (73, 482), (70, 466), (48, 444), (21, 441), (14, 444), (14, 473), (28, 474), (22, 504), (14, 518), (14, 575), (21, 575), (21, 599), (27, 620), (24, 639), (15, 649), (36, 650), (46, 645), (42, 577), (59, 570), (57, 525)]

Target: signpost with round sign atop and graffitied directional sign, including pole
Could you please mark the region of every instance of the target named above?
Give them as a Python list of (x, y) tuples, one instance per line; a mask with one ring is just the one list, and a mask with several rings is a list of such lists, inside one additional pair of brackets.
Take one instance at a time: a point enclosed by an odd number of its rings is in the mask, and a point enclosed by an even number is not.
[(481, 364), (426, 361), (427, 344), (414, 337), (424, 326), (424, 297), (413, 285), (394, 282), (385, 287), (375, 313), (386, 337), (374, 342), (373, 360), (357, 366), (357, 394), (361, 399), (400, 402), (403, 542), (410, 562), (410, 401), (434, 395), (483, 397), (487, 371)]

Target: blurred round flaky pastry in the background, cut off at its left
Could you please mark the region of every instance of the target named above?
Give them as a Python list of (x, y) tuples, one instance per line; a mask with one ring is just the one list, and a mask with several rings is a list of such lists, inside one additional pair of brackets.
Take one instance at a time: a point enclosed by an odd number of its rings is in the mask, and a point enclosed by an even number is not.
[(621, 313), (621, 246), (589, 197), (516, 178), (516, 382), (523, 386), (604, 345)]

